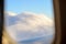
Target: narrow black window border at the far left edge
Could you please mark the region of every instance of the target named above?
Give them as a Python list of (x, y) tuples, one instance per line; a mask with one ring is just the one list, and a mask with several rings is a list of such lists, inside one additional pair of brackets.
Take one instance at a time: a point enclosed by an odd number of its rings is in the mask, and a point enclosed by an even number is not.
[(2, 44), (2, 31), (3, 31), (3, 4), (4, 1), (0, 0), (0, 44)]

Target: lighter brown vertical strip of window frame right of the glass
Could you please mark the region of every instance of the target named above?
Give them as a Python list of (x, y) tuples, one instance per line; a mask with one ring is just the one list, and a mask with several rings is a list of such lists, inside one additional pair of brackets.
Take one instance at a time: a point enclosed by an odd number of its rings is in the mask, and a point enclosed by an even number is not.
[(59, 1), (53, 0), (53, 4), (54, 4), (54, 16), (55, 16), (55, 40), (54, 40), (54, 44), (61, 44), (62, 26), (61, 26)]

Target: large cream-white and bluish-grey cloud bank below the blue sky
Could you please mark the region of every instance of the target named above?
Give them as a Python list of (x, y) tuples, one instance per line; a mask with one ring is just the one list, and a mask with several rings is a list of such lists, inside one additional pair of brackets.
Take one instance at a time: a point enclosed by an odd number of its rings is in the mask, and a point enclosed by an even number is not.
[[(15, 15), (12, 12), (8, 14)], [(23, 12), (6, 20), (8, 33), (18, 41), (54, 34), (54, 21), (45, 14)]]

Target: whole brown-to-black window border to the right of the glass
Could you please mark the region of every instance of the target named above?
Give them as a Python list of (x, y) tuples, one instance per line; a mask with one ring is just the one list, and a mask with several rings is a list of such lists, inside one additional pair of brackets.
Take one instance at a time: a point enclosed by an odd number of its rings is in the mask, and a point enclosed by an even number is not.
[(53, 0), (55, 12), (55, 41), (54, 44), (66, 44), (66, 1)]

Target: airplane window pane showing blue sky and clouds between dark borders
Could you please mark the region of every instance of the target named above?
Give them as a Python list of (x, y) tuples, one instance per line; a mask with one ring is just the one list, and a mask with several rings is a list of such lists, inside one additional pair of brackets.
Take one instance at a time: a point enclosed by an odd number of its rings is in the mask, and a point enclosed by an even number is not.
[(52, 44), (53, 0), (6, 0), (3, 44)]

